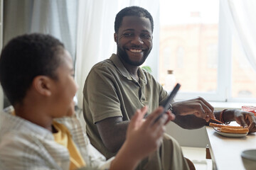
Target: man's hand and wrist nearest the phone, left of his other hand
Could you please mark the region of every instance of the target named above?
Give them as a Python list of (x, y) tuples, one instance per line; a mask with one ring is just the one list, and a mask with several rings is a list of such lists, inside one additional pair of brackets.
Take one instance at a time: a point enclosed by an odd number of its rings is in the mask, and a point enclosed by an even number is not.
[(196, 117), (203, 118), (207, 122), (211, 118), (215, 118), (213, 114), (213, 106), (201, 97), (188, 101), (178, 101), (171, 104), (175, 115), (196, 115)]

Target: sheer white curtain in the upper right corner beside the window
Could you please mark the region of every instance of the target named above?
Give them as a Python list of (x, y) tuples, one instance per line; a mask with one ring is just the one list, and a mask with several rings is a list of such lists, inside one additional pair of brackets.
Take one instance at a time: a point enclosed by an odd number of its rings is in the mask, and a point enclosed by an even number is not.
[(220, 1), (220, 6), (225, 11), (225, 17), (238, 38), (240, 47), (245, 52), (247, 60), (256, 72), (256, 1), (253, 0), (225, 0)]

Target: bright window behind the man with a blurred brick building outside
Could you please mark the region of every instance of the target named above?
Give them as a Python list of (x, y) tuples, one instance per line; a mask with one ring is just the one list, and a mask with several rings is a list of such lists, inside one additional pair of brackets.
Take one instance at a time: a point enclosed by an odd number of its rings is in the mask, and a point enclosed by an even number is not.
[[(174, 70), (176, 99), (253, 101), (256, 73), (246, 63), (216, 0), (161, 0), (159, 81)], [(242, 62), (241, 62), (242, 61)]]

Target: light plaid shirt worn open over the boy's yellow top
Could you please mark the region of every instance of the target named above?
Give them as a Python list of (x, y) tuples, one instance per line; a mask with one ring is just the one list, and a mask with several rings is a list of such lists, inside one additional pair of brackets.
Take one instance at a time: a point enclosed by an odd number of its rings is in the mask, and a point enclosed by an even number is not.
[[(14, 108), (10, 106), (0, 115), (0, 169), (68, 170), (68, 149), (55, 142), (52, 132), (11, 115), (12, 111)], [(112, 159), (106, 162), (105, 157), (92, 147), (77, 115), (55, 120), (70, 130), (87, 166), (97, 169), (109, 168)]]

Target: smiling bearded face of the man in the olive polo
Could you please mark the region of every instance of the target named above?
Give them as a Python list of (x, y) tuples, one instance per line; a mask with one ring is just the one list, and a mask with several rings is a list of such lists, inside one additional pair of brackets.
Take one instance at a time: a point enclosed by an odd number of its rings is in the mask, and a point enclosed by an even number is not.
[(152, 39), (151, 23), (148, 18), (125, 16), (122, 27), (114, 33), (117, 55), (122, 63), (127, 63), (126, 66), (129, 64), (136, 68), (145, 62), (151, 52)]

